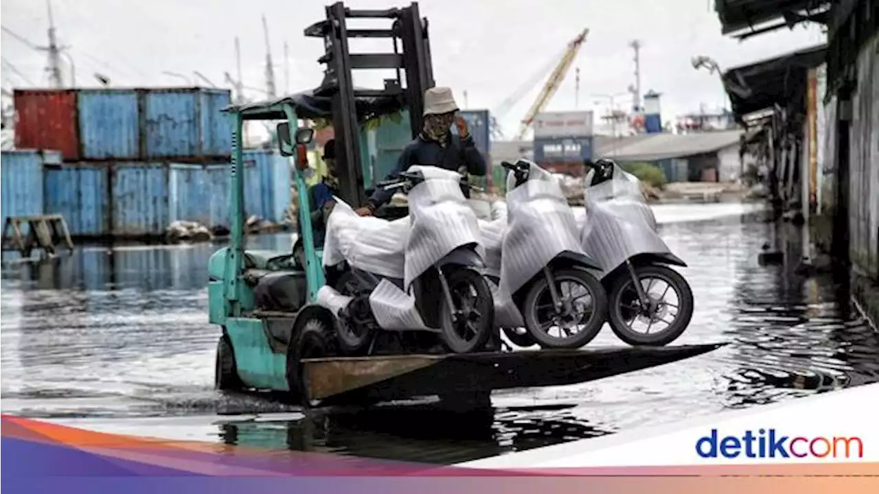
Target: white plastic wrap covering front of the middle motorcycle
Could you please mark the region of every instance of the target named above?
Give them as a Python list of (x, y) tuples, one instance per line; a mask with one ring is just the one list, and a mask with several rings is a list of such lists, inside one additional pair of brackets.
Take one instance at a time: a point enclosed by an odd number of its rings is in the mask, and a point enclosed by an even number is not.
[(561, 186), (548, 171), (531, 163), (528, 181), (514, 186), (507, 178), (508, 223), (503, 236), (500, 284), (495, 300), (502, 326), (521, 326), (512, 294), (564, 251), (583, 254), (577, 222)]

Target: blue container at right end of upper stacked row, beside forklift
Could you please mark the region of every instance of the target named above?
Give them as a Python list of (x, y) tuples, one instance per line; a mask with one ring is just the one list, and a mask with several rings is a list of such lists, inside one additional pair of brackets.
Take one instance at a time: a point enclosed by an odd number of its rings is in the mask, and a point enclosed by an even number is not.
[(146, 139), (142, 159), (219, 158), (231, 154), (231, 120), (220, 112), (229, 105), (229, 91), (147, 90), (142, 98), (142, 132)]

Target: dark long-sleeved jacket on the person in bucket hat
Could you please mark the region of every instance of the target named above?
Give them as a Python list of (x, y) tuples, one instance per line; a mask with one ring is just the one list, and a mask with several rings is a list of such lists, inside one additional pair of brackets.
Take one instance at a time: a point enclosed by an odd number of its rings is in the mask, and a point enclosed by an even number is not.
[[(415, 141), (410, 142), (403, 149), (394, 171), (391, 171), (385, 180), (397, 178), (401, 171), (408, 170), (413, 164), (437, 166), (452, 171), (466, 167), (469, 175), (477, 177), (483, 177), (486, 171), (485, 158), (479, 149), (476, 149), (473, 136), (469, 135), (466, 139), (461, 139), (451, 132), (449, 132), (449, 144), (446, 148), (440, 146), (439, 142), (425, 139), (423, 135), (419, 135)], [(386, 191), (377, 188), (372, 197), (367, 200), (367, 204), (373, 209), (377, 209), (387, 204), (394, 197), (394, 193), (396, 191), (393, 189)]]

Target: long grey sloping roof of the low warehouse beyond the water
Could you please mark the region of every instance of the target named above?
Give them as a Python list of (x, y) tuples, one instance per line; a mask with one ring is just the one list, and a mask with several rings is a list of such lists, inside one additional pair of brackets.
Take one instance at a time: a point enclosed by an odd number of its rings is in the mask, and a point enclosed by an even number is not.
[(598, 156), (619, 161), (656, 161), (713, 153), (737, 144), (743, 130), (700, 132), (695, 134), (645, 134), (636, 142), (610, 149)]

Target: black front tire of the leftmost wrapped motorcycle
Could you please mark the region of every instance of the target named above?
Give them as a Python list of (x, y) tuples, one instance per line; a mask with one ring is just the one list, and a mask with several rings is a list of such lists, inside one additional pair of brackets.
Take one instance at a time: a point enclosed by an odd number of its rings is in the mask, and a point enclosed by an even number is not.
[[(469, 268), (458, 268), (447, 272), (446, 281), (449, 290), (452, 291), (453, 300), (461, 287), (470, 287), (476, 291), (475, 303), (471, 314), (476, 315), (476, 320), (470, 320), (467, 326), (468, 332), (475, 333), (472, 338), (462, 338), (459, 333), (460, 324), (454, 321), (452, 311), (457, 308), (448, 307), (446, 297), (439, 300), (439, 328), (442, 331), (443, 343), (449, 350), (455, 353), (477, 352), (483, 349), (485, 342), (494, 330), (494, 298), (491, 296), (491, 287), (483, 275)], [(440, 292), (441, 293), (441, 292)]]

